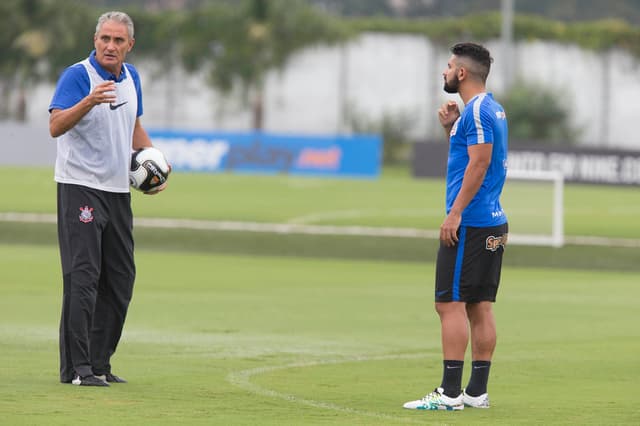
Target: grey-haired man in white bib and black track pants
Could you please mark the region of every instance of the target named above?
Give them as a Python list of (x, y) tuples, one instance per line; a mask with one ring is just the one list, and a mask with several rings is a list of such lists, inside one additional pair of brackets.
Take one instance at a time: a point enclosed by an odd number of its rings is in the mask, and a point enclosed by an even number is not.
[(89, 57), (61, 75), (49, 106), (63, 274), (60, 381), (109, 386), (125, 382), (110, 360), (135, 278), (131, 152), (151, 140), (140, 124), (138, 72), (124, 62), (134, 44), (131, 18), (103, 14), (93, 42)]

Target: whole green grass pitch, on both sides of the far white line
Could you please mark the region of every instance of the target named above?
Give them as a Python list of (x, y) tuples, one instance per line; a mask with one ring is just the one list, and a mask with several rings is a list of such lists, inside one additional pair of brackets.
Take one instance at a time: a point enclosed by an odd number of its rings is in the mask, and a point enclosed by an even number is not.
[[(54, 213), (51, 175), (0, 168), (0, 213)], [(442, 220), (442, 183), (398, 170), (377, 181), (171, 179), (163, 194), (135, 195), (138, 216), (424, 229)], [(521, 217), (536, 220), (547, 197), (538, 191), (509, 194)], [(640, 238), (637, 189), (566, 195), (567, 233)], [(638, 249), (510, 247), (492, 408), (422, 413), (401, 407), (441, 379), (433, 241), (137, 229), (136, 246), (113, 359), (130, 383), (79, 388), (57, 381), (55, 226), (0, 222), (0, 424), (640, 423)]]

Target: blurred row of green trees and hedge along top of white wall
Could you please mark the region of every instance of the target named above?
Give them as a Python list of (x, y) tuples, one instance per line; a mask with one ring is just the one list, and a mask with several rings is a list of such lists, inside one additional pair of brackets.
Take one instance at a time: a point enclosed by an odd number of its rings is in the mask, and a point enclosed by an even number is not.
[[(0, 119), (24, 120), (27, 91), (55, 81), (68, 65), (93, 48), (97, 16), (104, 12), (77, 0), (0, 2)], [(412, 33), (448, 46), (460, 39), (486, 41), (500, 36), (498, 12), (457, 18), (394, 19), (341, 17), (305, 0), (203, 2), (182, 10), (122, 10), (136, 24), (132, 61), (144, 58), (160, 70), (181, 66), (205, 71), (212, 89), (239, 93), (251, 105), (253, 128), (262, 127), (264, 78), (314, 44), (346, 42), (363, 32)], [(640, 29), (624, 21), (561, 22), (516, 15), (514, 37), (621, 48), (640, 56)]]

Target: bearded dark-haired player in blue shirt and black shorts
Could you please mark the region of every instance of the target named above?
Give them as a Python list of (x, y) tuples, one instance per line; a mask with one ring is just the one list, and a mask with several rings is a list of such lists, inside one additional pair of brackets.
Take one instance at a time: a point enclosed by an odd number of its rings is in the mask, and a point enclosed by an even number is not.
[[(487, 381), (496, 346), (492, 311), (507, 242), (507, 218), (500, 194), (507, 174), (507, 120), (485, 84), (492, 58), (483, 46), (451, 48), (444, 90), (458, 93), (438, 110), (449, 138), (447, 216), (440, 227), (435, 308), (440, 316), (442, 383), (422, 399), (404, 404), (419, 410), (489, 408)], [(465, 352), (471, 335), (472, 370), (461, 388)]]

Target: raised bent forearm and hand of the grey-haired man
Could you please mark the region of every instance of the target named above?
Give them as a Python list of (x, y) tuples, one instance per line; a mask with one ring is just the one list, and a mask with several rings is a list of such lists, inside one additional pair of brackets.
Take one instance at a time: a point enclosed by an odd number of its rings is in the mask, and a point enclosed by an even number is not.
[(74, 106), (67, 109), (52, 109), (49, 115), (49, 133), (57, 138), (71, 130), (82, 117), (99, 104), (112, 103), (116, 100), (116, 86), (112, 81), (96, 86), (93, 92), (82, 98)]

